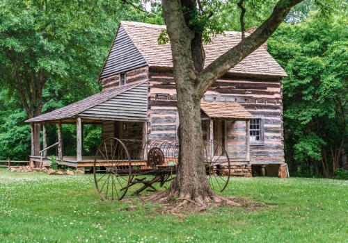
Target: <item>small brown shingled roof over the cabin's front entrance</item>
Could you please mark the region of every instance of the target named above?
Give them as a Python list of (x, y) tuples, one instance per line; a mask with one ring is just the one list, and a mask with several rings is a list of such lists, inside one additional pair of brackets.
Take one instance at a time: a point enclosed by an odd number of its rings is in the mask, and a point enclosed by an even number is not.
[(211, 118), (252, 119), (253, 115), (239, 103), (200, 101), (200, 109)]

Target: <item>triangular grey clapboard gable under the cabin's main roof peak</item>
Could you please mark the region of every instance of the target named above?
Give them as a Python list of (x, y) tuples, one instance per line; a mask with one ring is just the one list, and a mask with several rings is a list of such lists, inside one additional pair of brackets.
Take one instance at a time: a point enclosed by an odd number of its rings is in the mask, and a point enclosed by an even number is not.
[(123, 26), (120, 25), (100, 78), (106, 78), (145, 65), (147, 65), (145, 59), (141, 56)]

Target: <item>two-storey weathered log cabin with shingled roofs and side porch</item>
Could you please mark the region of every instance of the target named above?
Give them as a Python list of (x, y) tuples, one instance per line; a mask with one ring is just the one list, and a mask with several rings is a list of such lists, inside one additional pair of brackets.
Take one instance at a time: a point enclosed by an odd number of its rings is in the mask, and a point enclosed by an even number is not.
[[(166, 26), (120, 22), (99, 76), (102, 91), (27, 122), (58, 124), (58, 160), (87, 167), (82, 156), (84, 124), (102, 124), (102, 138), (175, 140), (180, 124), (171, 46), (159, 44)], [(205, 65), (241, 40), (226, 31), (205, 44)], [(214, 82), (201, 101), (203, 139), (216, 140), (232, 161), (231, 174), (278, 175), (285, 165), (282, 78), (284, 69), (267, 52), (267, 43)], [(77, 156), (63, 156), (62, 124), (77, 124)], [(47, 144), (43, 144), (46, 151)], [(48, 160), (44, 152), (32, 162)]]

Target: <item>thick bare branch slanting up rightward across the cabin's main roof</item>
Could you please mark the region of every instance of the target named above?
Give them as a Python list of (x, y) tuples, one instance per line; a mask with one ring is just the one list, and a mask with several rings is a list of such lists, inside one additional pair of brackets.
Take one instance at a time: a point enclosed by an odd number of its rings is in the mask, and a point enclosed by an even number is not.
[(198, 77), (200, 80), (200, 95), (203, 96), (205, 91), (212, 85), (212, 82), (223, 74), (228, 72), (232, 67), (237, 65), (250, 53), (258, 49), (261, 44), (267, 41), (276, 28), (283, 22), (283, 19), (290, 12), (290, 9), (303, 0), (280, 0), (274, 7), (271, 16), (263, 22), (251, 35), (245, 37), (235, 47), (210, 63)]

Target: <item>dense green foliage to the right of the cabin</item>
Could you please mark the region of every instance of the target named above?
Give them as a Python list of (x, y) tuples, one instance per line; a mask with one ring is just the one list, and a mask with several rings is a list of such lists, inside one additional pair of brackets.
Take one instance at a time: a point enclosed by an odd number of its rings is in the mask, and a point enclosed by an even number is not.
[(285, 67), (286, 161), (295, 174), (333, 176), (347, 164), (347, 17), (313, 12), (283, 24), (269, 51)]

